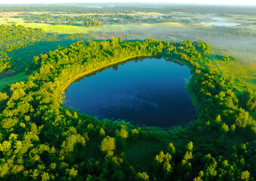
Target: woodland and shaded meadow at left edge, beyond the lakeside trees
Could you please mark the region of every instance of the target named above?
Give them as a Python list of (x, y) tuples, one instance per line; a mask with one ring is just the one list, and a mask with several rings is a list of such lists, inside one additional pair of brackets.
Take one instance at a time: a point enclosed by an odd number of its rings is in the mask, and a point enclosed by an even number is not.
[[(25, 80), (33, 72), (30, 63), (35, 56), (72, 44), (77, 39), (87, 40), (90, 35), (57, 35), (42, 29), (16, 25), (1, 25), (0, 90), (6, 85)], [(26, 72), (26, 75), (25, 75)]]

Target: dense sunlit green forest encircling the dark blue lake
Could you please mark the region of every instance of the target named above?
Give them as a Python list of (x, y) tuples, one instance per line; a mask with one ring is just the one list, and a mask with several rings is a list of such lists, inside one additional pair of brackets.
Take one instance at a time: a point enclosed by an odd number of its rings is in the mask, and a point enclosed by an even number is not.
[[(2, 74), (19, 71), (8, 52), (44, 38), (60, 41), (57, 34), (40, 29), (15, 24), (1, 29)], [(22, 69), (33, 70), (26, 81), (0, 92), (1, 180), (255, 179), (256, 94), (249, 86), (236, 90), (234, 77), (226, 78), (212, 66), (210, 44), (119, 37), (66, 45), (24, 63)], [(135, 57), (153, 56), (188, 66), (192, 72), (187, 90), (198, 119), (187, 127), (166, 135), (100, 121), (62, 106), (63, 91), (77, 78)], [(215, 58), (236, 59), (221, 54)], [(147, 143), (153, 149), (139, 149)]]

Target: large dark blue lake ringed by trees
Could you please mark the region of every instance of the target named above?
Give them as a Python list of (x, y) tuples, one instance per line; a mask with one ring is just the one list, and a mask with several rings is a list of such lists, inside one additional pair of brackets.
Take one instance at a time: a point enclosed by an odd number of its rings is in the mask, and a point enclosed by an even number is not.
[(66, 90), (63, 106), (99, 119), (184, 126), (196, 115), (184, 88), (190, 75), (187, 66), (163, 58), (132, 60), (73, 82)]

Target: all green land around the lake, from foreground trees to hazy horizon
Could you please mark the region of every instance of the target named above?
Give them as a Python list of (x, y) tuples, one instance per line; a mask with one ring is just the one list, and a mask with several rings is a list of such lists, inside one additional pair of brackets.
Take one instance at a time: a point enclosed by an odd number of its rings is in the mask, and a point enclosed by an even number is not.
[[(0, 180), (255, 180), (255, 8), (0, 12)], [(213, 13), (242, 25), (199, 24)], [(190, 67), (196, 121), (135, 127), (61, 106), (76, 78), (145, 56)]]

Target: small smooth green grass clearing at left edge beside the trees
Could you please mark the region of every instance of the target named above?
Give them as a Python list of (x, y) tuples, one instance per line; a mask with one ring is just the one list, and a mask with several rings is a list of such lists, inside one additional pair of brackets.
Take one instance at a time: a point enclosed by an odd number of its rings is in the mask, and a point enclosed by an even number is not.
[(0, 91), (3, 90), (8, 84), (14, 84), (18, 81), (26, 81), (26, 78), (28, 78), (29, 75), (27, 75), (25, 72), (21, 72), (18, 75), (14, 75), (12, 77), (4, 77), (0, 79)]

